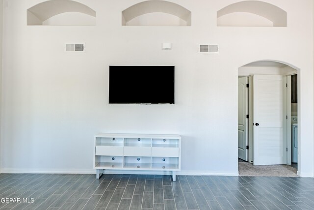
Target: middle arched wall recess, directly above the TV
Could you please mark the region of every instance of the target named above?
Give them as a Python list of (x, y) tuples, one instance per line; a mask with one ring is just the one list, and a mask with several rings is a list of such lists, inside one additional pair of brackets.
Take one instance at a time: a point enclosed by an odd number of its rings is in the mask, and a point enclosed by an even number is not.
[(191, 26), (191, 11), (164, 0), (147, 0), (122, 11), (122, 26)]

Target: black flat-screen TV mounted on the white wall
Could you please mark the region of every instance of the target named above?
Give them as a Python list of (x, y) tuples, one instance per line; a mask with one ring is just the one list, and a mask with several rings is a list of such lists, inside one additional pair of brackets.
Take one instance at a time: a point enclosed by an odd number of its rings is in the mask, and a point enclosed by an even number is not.
[(109, 66), (110, 104), (174, 104), (174, 66)]

